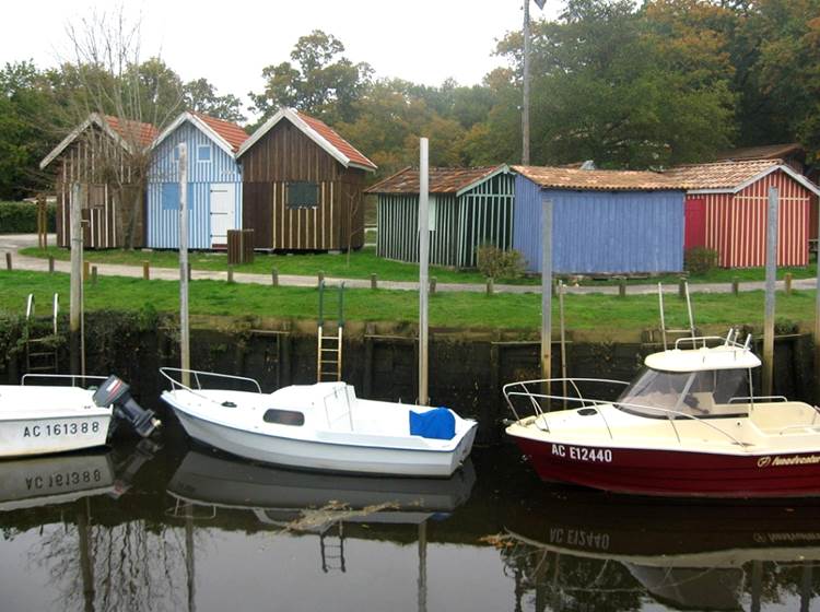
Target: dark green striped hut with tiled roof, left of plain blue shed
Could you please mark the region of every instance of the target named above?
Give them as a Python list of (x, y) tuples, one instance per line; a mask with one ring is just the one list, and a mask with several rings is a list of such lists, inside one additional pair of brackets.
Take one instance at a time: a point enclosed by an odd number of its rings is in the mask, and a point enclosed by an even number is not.
[[(475, 268), (481, 245), (513, 246), (515, 177), (506, 165), (431, 168), (430, 262)], [(419, 261), (419, 170), (405, 168), (366, 190), (378, 197), (377, 254)]]

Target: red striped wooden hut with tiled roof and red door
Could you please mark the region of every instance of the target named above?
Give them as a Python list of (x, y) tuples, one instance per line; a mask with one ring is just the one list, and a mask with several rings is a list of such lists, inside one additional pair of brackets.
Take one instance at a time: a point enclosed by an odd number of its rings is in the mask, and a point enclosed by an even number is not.
[(776, 187), (777, 264), (808, 264), (809, 205), (820, 189), (782, 161), (695, 164), (667, 175), (687, 189), (684, 248), (715, 249), (724, 268), (765, 266), (769, 188)]

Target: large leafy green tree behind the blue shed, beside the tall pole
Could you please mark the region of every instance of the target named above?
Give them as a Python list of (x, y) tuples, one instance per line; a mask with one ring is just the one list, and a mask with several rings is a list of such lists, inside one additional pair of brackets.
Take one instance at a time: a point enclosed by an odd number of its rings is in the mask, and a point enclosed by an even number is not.
[[(520, 49), (518, 33), (497, 48), (514, 67), (516, 86)], [(629, 0), (570, 0), (557, 22), (534, 24), (532, 158), (643, 168), (726, 148), (734, 130), (728, 84), (692, 79), (671, 61), (677, 57), (647, 35)]]

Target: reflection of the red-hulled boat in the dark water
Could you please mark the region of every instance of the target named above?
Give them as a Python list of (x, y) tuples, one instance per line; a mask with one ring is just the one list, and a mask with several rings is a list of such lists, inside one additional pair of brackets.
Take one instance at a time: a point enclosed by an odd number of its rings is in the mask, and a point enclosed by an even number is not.
[[(542, 511), (511, 516), (502, 556), (536, 609), (760, 610), (818, 591), (820, 503), (678, 504), (553, 490)], [(540, 607), (539, 607), (540, 605)]]

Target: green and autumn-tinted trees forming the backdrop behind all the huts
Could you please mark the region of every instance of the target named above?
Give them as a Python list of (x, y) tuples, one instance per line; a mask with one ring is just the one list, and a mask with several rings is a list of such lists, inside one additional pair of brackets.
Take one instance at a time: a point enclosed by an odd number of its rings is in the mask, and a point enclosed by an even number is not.
[[(593, 160), (604, 168), (702, 162), (734, 146), (800, 142), (820, 154), (820, 0), (569, 0), (532, 21), (531, 162)], [(161, 57), (139, 57), (139, 24), (83, 21), (68, 30), (71, 59), (0, 70), (0, 200), (48, 189), (39, 161), (89, 111), (167, 126), (184, 109), (248, 132), (281, 106), (321, 118), (378, 166), (374, 180), (418, 162), (518, 163), (523, 34), (494, 52), (505, 66), (480, 84), (440, 86), (376, 79), (342, 40), (313, 31), (265, 86), (218, 94), (207, 78), (183, 82)], [(458, 44), (454, 27), (449, 44)], [(397, 35), (396, 44), (402, 43)], [(446, 46), (442, 61), (446, 62)], [(276, 58), (274, 58), (276, 60)]]

